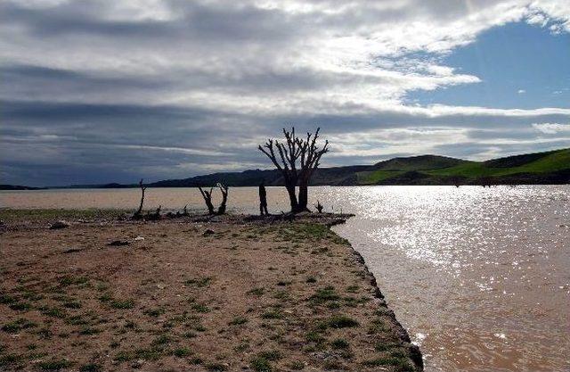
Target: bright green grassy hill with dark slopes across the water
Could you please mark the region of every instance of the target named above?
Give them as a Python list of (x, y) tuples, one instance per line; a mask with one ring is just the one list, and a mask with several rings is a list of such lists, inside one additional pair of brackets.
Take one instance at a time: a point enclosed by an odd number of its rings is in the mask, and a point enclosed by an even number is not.
[[(509, 156), (492, 161), (425, 155), (395, 158), (376, 164), (378, 170), (357, 173), (360, 185), (441, 185), (491, 183), (559, 183), (570, 173), (570, 149)], [(544, 180), (545, 182), (542, 182)]]

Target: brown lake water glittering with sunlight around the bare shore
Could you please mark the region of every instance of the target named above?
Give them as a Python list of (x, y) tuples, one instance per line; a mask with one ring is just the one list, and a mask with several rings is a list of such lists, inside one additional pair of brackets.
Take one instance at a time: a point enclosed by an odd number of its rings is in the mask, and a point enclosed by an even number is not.
[[(256, 188), (230, 189), (256, 212)], [(195, 189), (149, 189), (146, 205), (202, 208)], [(362, 253), (428, 371), (570, 370), (570, 186), (312, 187)], [(136, 189), (0, 193), (11, 208), (134, 209)], [(269, 188), (272, 211), (287, 210)]]

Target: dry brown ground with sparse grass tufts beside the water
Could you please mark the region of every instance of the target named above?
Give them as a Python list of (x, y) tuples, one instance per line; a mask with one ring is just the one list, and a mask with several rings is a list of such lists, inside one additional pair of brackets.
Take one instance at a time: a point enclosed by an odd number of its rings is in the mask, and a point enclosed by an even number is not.
[(0, 213), (0, 370), (420, 369), (331, 216), (34, 213)]

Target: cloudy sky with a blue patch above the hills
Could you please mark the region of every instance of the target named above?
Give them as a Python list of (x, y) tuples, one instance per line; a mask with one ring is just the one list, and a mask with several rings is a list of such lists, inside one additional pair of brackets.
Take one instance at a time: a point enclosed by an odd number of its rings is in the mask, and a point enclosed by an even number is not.
[(570, 147), (568, 0), (0, 0), (0, 183)]

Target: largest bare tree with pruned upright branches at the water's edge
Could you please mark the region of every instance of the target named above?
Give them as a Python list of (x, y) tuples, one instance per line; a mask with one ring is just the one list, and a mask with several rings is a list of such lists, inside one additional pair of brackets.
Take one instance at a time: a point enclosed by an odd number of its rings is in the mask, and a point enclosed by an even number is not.
[(322, 148), (316, 144), (319, 130), (320, 128), (317, 128), (314, 134), (307, 133), (306, 138), (301, 138), (295, 136), (295, 128), (291, 128), (290, 131), (283, 128), (285, 143), (269, 138), (265, 145), (258, 146), (259, 151), (265, 153), (275, 168), (281, 172), (293, 213), (308, 211), (306, 205), (309, 180), (319, 166), (322, 155), (329, 151), (329, 141), (325, 141)]

